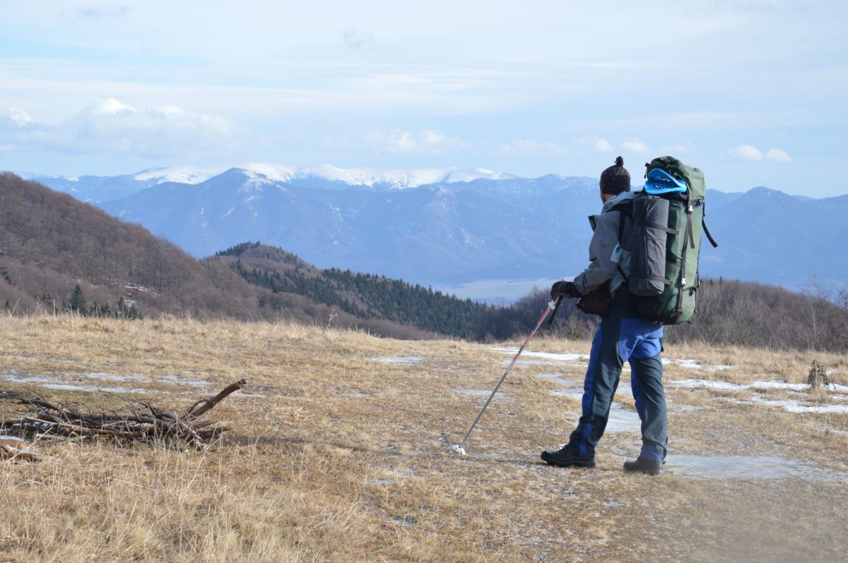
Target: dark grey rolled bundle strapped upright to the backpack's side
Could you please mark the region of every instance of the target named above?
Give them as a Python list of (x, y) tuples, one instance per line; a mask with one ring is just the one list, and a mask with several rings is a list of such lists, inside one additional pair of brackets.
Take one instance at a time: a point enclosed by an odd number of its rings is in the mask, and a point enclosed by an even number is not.
[(628, 289), (633, 295), (661, 295), (666, 285), (666, 240), (677, 231), (668, 228), (668, 200), (643, 196), (633, 200), (633, 250)]

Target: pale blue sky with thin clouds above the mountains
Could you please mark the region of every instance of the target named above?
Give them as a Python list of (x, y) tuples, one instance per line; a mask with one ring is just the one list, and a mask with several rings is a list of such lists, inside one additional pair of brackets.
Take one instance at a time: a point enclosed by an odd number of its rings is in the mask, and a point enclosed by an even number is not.
[(0, 1), (0, 169), (487, 168), (622, 155), (848, 193), (848, 3)]

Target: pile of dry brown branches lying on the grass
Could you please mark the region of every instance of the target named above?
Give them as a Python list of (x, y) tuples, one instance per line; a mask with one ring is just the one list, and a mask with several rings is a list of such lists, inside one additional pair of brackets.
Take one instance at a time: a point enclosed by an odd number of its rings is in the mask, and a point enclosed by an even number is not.
[(79, 405), (62, 405), (14, 391), (0, 390), (0, 401), (11, 401), (21, 408), (11, 418), (0, 419), (0, 431), (19, 436), (44, 435), (67, 438), (107, 436), (114, 439), (165, 441), (178, 446), (203, 448), (230, 429), (220, 421), (201, 418), (248, 382), (240, 379), (218, 395), (198, 400), (183, 413), (165, 411), (146, 402), (129, 401), (129, 412), (92, 412)]

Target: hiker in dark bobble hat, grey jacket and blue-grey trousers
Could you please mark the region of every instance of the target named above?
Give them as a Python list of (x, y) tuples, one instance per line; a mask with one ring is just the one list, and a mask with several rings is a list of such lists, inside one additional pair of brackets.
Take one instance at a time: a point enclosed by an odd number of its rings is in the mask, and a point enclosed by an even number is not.
[[(621, 256), (620, 248), (630, 251), (628, 240), (633, 235), (633, 220), (613, 207), (628, 198), (633, 198), (630, 174), (622, 157), (617, 157), (615, 165), (600, 175), (600, 199), (604, 203), (601, 213), (589, 218), (594, 229), (589, 243), (589, 267), (572, 281), (558, 281), (550, 289), (553, 299), (582, 297), (585, 306), (580, 308), (601, 314), (602, 319), (592, 340), (583, 384), (583, 413), (577, 428), (568, 444), (558, 451), (543, 451), (542, 459), (553, 466), (595, 466), (595, 447), (604, 435), (623, 362), (627, 361), (633, 398), (642, 421), (642, 450), (636, 461), (624, 463), (624, 471), (656, 475), (662, 470), (667, 445), (662, 325), (636, 314), (628, 284), (621, 283), (628, 273), (617, 262), (626, 261), (616, 257)], [(622, 266), (628, 268), (627, 264)]]

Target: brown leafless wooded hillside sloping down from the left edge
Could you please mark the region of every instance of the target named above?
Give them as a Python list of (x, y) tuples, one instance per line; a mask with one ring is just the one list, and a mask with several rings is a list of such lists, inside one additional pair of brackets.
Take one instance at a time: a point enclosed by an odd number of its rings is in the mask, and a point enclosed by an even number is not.
[(0, 306), (8, 312), (290, 319), (399, 338), (435, 334), (363, 319), (308, 296), (248, 284), (147, 229), (14, 174), (0, 174)]

